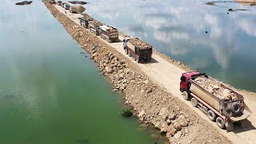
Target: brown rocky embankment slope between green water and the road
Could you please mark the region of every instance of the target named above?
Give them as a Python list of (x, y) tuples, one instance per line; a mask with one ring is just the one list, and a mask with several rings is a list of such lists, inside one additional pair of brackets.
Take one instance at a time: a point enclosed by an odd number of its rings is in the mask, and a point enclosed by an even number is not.
[(137, 66), (130, 64), (129, 59), (58, 12), (53, 5), (45, 4), (82, 49), (91, 54), (100, 73), (110, 78), (113, 90), (126, 95), (124, 101), (134, 107), (142, 122), (154, 125), (171, 143), (230, 143), (178, 98), (162, 90)]

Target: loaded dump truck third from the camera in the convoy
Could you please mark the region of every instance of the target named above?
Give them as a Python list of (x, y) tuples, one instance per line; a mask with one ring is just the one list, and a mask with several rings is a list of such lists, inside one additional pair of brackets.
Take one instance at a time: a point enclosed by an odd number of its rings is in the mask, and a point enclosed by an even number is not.
[(100, 36), (107, 42), (118, 42), (118, 30), (114, 26), (100, 26)]

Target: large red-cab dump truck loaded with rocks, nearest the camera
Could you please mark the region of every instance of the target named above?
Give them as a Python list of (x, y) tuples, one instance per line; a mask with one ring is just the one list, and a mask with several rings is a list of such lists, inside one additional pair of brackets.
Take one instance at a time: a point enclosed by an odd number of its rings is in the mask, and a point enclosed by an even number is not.
[(198, 107), (219, 128), (226, 128), (227, 131), (234, 130), (234, 123), (242, 124), (251, 114), (242, 94), (205, 73), (183, 73), (180, 91), (184, 99), (191, 101), (192, 106)]

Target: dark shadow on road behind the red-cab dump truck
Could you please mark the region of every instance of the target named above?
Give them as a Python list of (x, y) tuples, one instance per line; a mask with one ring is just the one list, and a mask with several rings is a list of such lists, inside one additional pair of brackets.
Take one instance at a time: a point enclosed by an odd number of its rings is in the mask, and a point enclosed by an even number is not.
[(235, 123), (234, 124), (234, 133), (235, 134), (242, 133), (245, 131), (250, 131), (250, 130), (256, 130), (256, 128), (247, 119), (244, 120), (243, 123)]

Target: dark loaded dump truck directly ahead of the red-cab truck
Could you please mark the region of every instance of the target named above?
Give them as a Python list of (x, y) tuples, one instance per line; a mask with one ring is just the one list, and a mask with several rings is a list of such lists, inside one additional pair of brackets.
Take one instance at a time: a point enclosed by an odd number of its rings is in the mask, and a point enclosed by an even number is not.
[(136, 62), (150, 62), (152, 46), (143, 42), (139, 38), (124, 38), (123, 48)]

